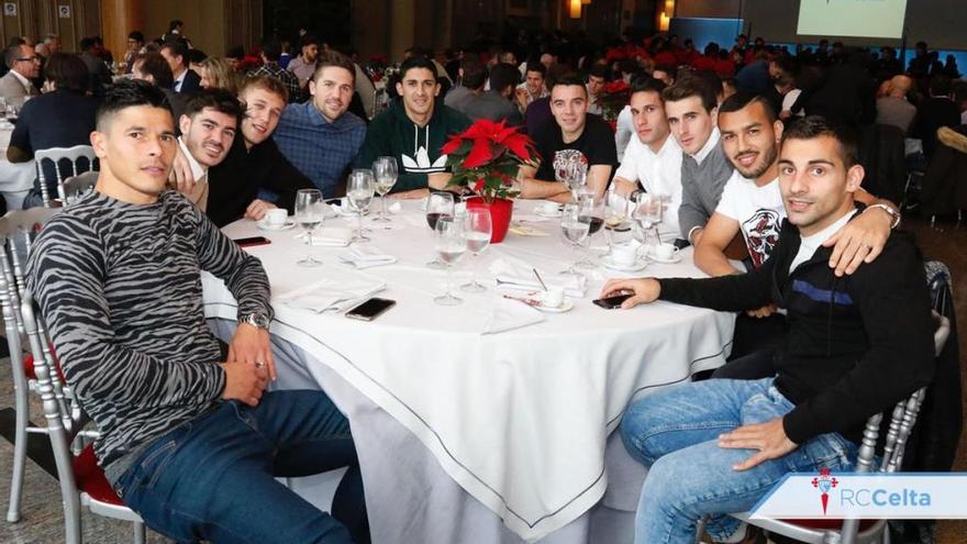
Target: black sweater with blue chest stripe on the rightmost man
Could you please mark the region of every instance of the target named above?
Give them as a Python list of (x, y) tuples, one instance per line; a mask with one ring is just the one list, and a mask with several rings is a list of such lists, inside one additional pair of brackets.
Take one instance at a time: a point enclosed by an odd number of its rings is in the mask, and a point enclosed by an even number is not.
[(876, 260), (837, 278), (820, 247), (792, 274), (799, 230), (783, 222), (773, 255), (741, 276), (660, 279), (662, 299), (722, 311), (776, 303), (789, 334), (774, 360), (776, 387), (796, 408), (786, 435), (802, 444), (837, 432), (859, 443), (866, 420), (892, 410), (934, 374), (933, 321), (923, 262), (894, 232)]

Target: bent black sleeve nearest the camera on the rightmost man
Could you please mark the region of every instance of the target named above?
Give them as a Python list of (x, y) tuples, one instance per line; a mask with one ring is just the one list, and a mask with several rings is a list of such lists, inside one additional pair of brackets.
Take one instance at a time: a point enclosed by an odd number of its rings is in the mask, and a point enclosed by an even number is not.
[(933, 378), (930, 296), (923, 262), (912, 242), (890, 243), (845, 285), (863, 317), (869, 351), (836, 384), (786, 415), (786, 434), (798, 444), (855, 428)]

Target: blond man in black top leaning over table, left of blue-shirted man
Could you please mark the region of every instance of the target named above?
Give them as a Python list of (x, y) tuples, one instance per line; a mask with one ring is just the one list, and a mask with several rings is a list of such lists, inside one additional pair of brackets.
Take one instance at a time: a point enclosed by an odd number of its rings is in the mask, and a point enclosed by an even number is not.
[[(209, 168), (211, 188), (205, 214), (216, 226), (243, 217), (259, 221), (273, 208), (285, 208), (291, 214), (296, 192), (314, 188), (270, 137), (286, 108), (286, 92), (278, 79), (267, 76), (249, 77), (242, 85), (238, 100), (245, 115), (241, 130), (225, 159)], [(260, 190), (271, 192), (276, 200), (258, 198)]]

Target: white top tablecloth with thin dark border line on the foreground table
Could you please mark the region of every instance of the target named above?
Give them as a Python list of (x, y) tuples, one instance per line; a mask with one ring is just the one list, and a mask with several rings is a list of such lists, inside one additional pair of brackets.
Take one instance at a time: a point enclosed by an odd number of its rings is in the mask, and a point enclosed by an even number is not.
[[(319, 384), (332, 370), (388, 412), (453, 480), (523, 540), (564, 528), (601, 499), (608, 487), (605, 444), (636, 391), (683, 380), (720, 365), (727, 355), (731, 314), (664, 302), (631, 311), (591, 304), (605, 277), (626, 276), (604, 269), (590, 273), (588, 293), (573, 311), (548, 314), (523, 329), (481, 334), (500, 291), (462, 292), (465, 302), (458, 307), (434, 304), (443, 274), (424, 265), (433, 257), (432, 237), (415, 202), (407, 202), (392, 224), (394, 230), (374, 231), (373, 244), (399, 263), (362, 271), (338, 264), (337, 255), (347, 251), (343, 248), (315, 247), (325, 265), (297, 267), (307, 246), (293, 231), (262, 232), (240, 221), (225, 232), (273, 241), (249, 251), (263, 260), (275, 297), (320, 277), (388, 284), (382, 296), (398, 306), (375, 322), (318, 315), (276, 302), (273, 333), (327, 367), (309, 368)], [(487, 249), (480, 269), (501, 256), (524, 258), (548, 275), (562, 269), (570, 252), (557, 222), (527, 224), (549, 235), (511, 233), (503, 244)], [(597, 236), (599, 243), (603, 235)], [(683, 256), (680, 264), (652, 264), (638, 275), (699, 276), (690, 253)], [(460, 268), (468, 266), (465, 260)], [(234, 319), (234, 300), (221, 281), (204, 276), (203, 285), (207, 315)], [(365, 459), (380, 457), (392, 464), (393, 451), (360, 451), (370, 506), (387, 503), (379, 498), (381, 482), (366, 477)], [(431, 490), (414, 489), (413, 496), (420, 492)], [(408, 507), (399, 497), (396, 501), (408, 517), (387, 515), (389, 524), (370, 509), (376, 542), (453, 542), (454, 535), (434, 540), (421, 534), (421, 528), (432, 525), (426, 520), (434, 515), (460, 517), (459, 508), (441, 513)], [(487, 542), (478, 536), (457, 540)]]

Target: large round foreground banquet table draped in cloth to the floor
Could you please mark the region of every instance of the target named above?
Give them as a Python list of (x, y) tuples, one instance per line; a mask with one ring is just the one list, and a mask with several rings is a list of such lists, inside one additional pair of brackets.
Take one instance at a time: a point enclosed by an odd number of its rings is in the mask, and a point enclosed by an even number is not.
[[(688, 249), (678, 264), (651, 263), (635, 274), (599, 266), (587, 271), (588, 289), (571, 299), (571, 311), (490, 333), (507, 304), (538, 314), (501, 297), (524, 292), (497, 287), (494, 262), (525, 262), (547, 278), (573, 257), (558, 220), (533, 214), (534, 206), (514, 209), (515, 225), (530, 235), (512, 230), (476, 262), (467, 256), (457, 266), (455, 284), (477, 267), (489, 287), (458, 292), (464, 302), (455, 307), (432, 300), (445, 276), (425, 266), (433, 238), (420, 201), (403, 201), (389, 227), (365, 220), (368, 245), (398, 262), (363, 270), (340, 262), (345, 247), (313, 246), (323, 266), (297, 266), (308, 248), (298, 226), (268, 232), (240, 220), (223, 229), (232, 238), (271, 241), (246, 251), (271, 284), (275, 387), (325, 389), (349, 419), (374, 542), (620, 542), (607, 526), (613, 517), (591, 514), (620, 512), (626, 537), (644, 469), (612, 433), (625, 407), (729, 354), (733, 314), (660, 301), (633, 310), (591, 303), (610, 277), (701, 277)], [(355, 221), (331, 218), (323, 231)], [(591, 244), (604, 245), (604, 234)], [(286, 302), (320, 282), (362, 279), (385, 282), (378, 296), (397, 301), (373, 322)], [(235, 301), (213, 276), (202, 282), (205, 315), (227, 337)], [(314, 501), (311, 479), (291, 485)]]

